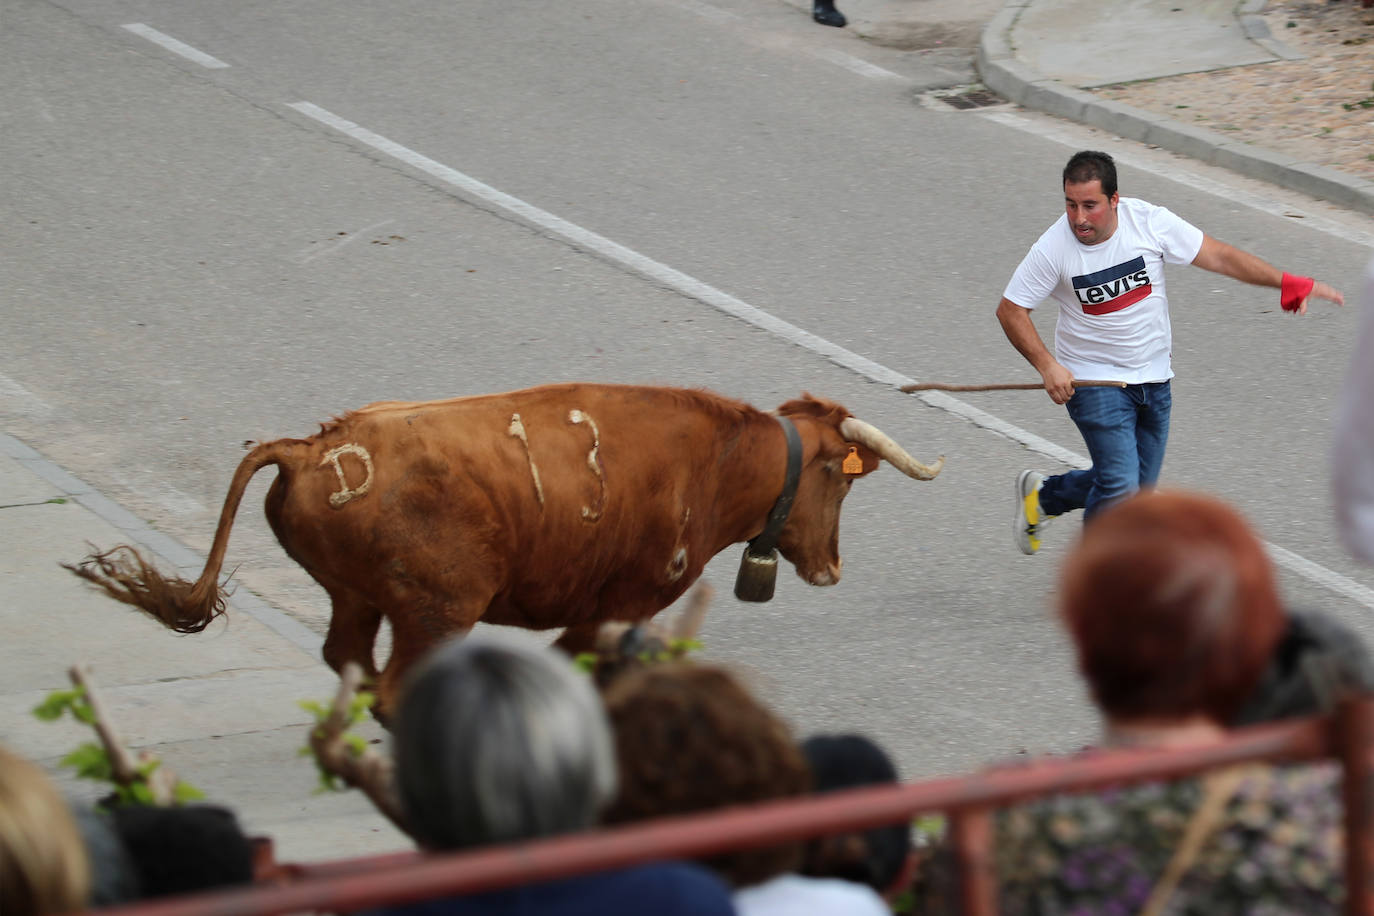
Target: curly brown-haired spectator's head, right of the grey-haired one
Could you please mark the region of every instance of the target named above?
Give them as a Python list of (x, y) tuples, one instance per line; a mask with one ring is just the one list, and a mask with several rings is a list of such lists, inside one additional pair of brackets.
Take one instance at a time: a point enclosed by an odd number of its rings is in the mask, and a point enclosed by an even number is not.
[[(786, 724), (720, 667), (669, 662), (606, 689), (616, 729), (620, 794), (606, 821), (706, 812), (802, 795), (811, 776)], [(735, 887), (796, 871), (802, 845), (703, 860)]]

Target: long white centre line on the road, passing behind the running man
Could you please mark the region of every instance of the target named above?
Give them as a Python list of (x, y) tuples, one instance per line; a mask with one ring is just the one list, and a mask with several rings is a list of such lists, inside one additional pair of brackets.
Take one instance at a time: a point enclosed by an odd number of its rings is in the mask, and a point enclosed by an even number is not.
[[(835, 365), (841, 365), (871, 382), (879, 385), (890, 385), (894, 389), (900, 389), (904, 385), (914, 385), (915, 379), (907, 378), (894, 369), (874, 363), (852, 350), (846, 350), (838, 343), (833, 343), (822, 336), (816, 336), (811, 331), (804, 331), (796, 324), (783, 321), (782, 319), (772, 316), (763, 309), (758, 309), (747, 302), (736, 299), (728, 293), (723, 293), (713, 286), (702, 283), (694, 277), (675, 271), (666, 264), (660, 264), (653, 258), (649, 258), (638, 251), (627, 249), (625, 246), (611, 242), (610, 239), (596, 235), (589, 229), (584, 229), (580, 225), (569, 222), (562, 217), (556, 217), (552, 213), (540, 210), (539, 207), (525, 203), (519, 198), (514, 198), (503, 191), (482, 184), (477, 179), (463, 174), (458, 169), (449, 168), (441, 162), (436, 162), (426, 155), (415, 152), (400, 143), (387, 140), (386, 137), (372, 133), (367, 128), (363, 128), (352, 121), (338, 117), (324, 108), (313, 104), (311, 102), (294, 102), (290, 107), (300, 111), (301, 114), (324, 124), (339, 133), (349, 136), (359, 143), (363, 143), (379, 152), (385, 152), (412, 168), (431, 174), (436, 179), (453, 185), (455, 188), (463, 191), (467, 195), (485, 201), (493, 206), (497, 206), (541, 229), (556, 235), (567, 242), (576, 244), (580, 249), (592, 251), (596, 255), (620, 264), (640, 276), (653, 280), (654, 283), (673, 290), (684, 297), (705, 302), (706, 305), (724, 312), (725, 314), (739, 319), (746, 324), (752, 324), (756, 328), (768, 331), (789, 343), (796, 343), (800, 347), (805, 347), (812, 353), (826, 357)], [(1173, 177), (1172, 174), (1168, 177)], [(1234, 195), (1228, 194), (1234, 199)], [(912, 397), (929, 404), (933, 408), (947, 411), (956, 416), (962, 416), (977, 427), (985, 428), (998, 435), (1006, 437), (1013, 442), (1020, 442), (1025, 448), (1043, 455), (1048, 459), (1062, 461), (1069, 467), (1091, 467), (1092, 461), (1076, 452), (1061, 448), (1048, 439), (1044, 439), (1035, 433), (1022, 430), (1020, 426), (1007, 423), (1000, 417), (996, 417), (985, 411), (980, 411), (971, 404), (965, 404), (959, 398), (949, 397), (943, 391), (922, 391), (914, 394)], [(1359, 582), (1349, 580), (1340, 573), (1319, 566), (1297, 553), (1286, 551), (1274, 544), (1265, 544), (1274, 562), (1283, 566), (1298, 575), (1312, 580), (1318, 585), (1323, 585), (1340, 595), (1349, 597), (1364, 607), (1374, 610), (1374, 589), (1369, 589)]]

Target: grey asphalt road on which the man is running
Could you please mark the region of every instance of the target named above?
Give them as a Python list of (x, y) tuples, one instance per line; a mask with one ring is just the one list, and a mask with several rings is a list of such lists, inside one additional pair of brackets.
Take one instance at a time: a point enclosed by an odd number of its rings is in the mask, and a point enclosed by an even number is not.
[[(739, 604), (721, 555), (705, 655), (798, 732), (867, 732), (908, 776), (1076, 747), (1095, 721), (1050, 593), (1077, 522), (1036, 558), (1010, 537), (1015, 472), (1062, 470), (1076, 431), (1035, 391), (921, 400), (892, 380), (1035, 379), (993, 306), (1076, 148), (1117, 155), (1125, 194), (1352, 293), (1374, 224), (922, 100), (969, 67), (772, 0), (7, 0), (0, 428), (203, 551), (245, 439), (370, 401), (570, 379), (765, 408), (809, 390), (947, 468), (853, 489), (835, 588), (785, 571), (771, 604)], [(1294, 320), (1186, 268), (1169, 294), (1167, 482), (1235, 501), (1287, 552), (1290, 602), (1374, 639), (1374, 573), (1336, 540), (1326, 467), (1353, 310)], [(256, 508), (268, 478), (228, 567), (323, 630), (323, 592)]]

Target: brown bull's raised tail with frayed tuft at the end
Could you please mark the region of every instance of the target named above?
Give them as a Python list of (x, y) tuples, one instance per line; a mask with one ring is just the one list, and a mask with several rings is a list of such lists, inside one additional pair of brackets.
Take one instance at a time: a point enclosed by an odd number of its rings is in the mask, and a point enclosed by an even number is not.
[(243, 500), (249, 479), (268, 464), (282, 464), (291, 452), (304, 445), (301, 439), (276, 439), (249, 452), (229, 482), (229, 492), (220, 509), (220, 525), (214, 529), (214, 544), (205, 562), (201, 578), (190, 582), (158, 573), (135, 548), (121, 544), (103, 553), (92, 553), (78, 566), (63, 563), (88, 580), (110, 597), (132, 604), (179, 633), (199, 633), (210, 621), (224, 614), (227, 592), (220, 585), (220, 569), (229, 544), (229, 529)]

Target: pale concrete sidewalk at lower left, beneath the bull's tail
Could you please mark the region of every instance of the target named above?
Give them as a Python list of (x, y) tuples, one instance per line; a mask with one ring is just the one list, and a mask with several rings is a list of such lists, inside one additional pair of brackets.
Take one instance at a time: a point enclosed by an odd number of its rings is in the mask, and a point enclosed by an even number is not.
[[(360, 792), (313, 794), (315, 765), (297, 755), (313, 720), (297, 702), (324, 702), (338, 684), (320, 637), (246, 589), (228, 623), (183, 637), (59, 566), (88, 544), (125, 542), (166, 569), (201, 570), (194, 552), (0, 433), (0, 744), (40, 762), (74, 801), (102, 795), (58, 766), (92, 731), (30, 714), (70, 687), (70, 665), (87, 663), (125, 742), (232, 808), (249, 834), (272, 836), (279, 861), (412, 849)], [(382, 736), (372, 722), (359, 731)]]

